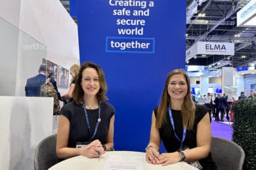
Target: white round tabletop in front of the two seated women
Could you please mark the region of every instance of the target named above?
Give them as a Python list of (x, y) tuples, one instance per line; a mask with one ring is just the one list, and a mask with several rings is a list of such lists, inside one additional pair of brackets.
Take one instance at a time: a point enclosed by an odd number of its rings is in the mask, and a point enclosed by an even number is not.
[(173, 163), (167, 166), (162, 165), (153, 165), (152, 163), (146, 162), (145, 153), (144, 152), (133, 152), (133, 151), (110, 151), (106, 152), (102, 157), (100, 158), (87, 158), (85, 156), (75, 156), (74, 158), (69, 158), (67, 160), (61, 161), (57, 163), (56, 165), (53, 165), (53, 167), (49, 168), (49, 170), (65, 170), (65, 169), (103, 169), (105, 165), (105, 161), (108, 160), (108, 158), (112, 156), (125, 156), (127, 157), (127, 160), (131, 156), (139, 156), (142, 160), (142, 169), (145, 170), (158, 170), (158, 169), (175, 169), (175, 170), (195, 170), (196, 167), (193, 167), (192, 165), (188, 165), (186, 162), (178, 162)]

